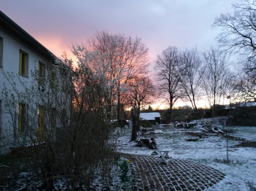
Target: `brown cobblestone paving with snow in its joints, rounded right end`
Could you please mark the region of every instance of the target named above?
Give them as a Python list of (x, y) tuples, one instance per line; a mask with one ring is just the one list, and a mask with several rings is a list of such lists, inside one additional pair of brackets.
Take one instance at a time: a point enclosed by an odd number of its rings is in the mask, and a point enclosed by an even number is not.
[(224, 179), (225, 174), (212, 167), (182, 159), (159, 164), (159, 156), (122, 154), (130, 159), (134, 190), (204, 190)]

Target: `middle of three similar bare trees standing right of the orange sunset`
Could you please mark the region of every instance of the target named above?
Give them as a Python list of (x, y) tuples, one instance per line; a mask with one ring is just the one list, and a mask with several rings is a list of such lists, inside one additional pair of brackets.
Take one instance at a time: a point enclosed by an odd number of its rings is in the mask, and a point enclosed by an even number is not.
[(180, 82), (184, 90), (184, 98), (190, 101), (193, 110), (198, 113), (196, 103), (200, 96), (200, 84), (202, 83), (204, 69), (197, 48), (182, 52), (180, 63), (180, 71), (182, 73)]

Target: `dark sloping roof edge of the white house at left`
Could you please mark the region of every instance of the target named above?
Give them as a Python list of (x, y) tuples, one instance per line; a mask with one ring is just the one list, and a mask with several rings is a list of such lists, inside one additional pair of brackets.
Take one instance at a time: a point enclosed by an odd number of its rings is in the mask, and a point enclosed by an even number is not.
[(47, 57), (49, 60), (54, 60), (54, 55), (50, 50), (45, 48), (43, 45), (40, 44), (36, 39), (34, 39), (30, 34), (25, 32), (22, 27), (19, 27), (12, 19), (6, 16), (2, 11), (0, 11), (0, 26), (6, 29), (8, 32), (13, 34), (14, 36), (21, 39), (27, 45), (32, 47), (34, 50), (39, 52), (44, 57)]

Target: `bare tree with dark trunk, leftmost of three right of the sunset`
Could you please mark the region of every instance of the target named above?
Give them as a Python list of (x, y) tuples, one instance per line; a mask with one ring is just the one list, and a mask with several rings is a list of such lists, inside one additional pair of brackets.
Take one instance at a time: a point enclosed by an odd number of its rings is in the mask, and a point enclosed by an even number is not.
[(159, 93), (169, 103), (169, 115), (172, 114), (174, 103), (182, 97), (180, 87), (182, 73), (179, 65), (180, 52), (177, 47), (168, 47), (161, 55), (157, 55), (154, 70), (156, 70), (156, 78), (159, 82)]

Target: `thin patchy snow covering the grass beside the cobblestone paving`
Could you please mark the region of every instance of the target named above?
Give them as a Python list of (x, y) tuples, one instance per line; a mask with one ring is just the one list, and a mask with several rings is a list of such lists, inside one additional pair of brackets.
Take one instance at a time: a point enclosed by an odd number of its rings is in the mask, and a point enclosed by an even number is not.
[[(187, 159), (200, 164), (208, 165), (226, 174), (221, 182), (208, 188), (208, 190), (247, 190), (247, 183), (256, 185), (256, 148), (238, 147), (241, 139), (256, 141), (256, 127), (237, 127), (234, 137), (240, 139), (229, 140), (229, 159), (226, 164), (226, 139), (221, 135), (204, 136), (200, 141), (186, 141), (196, 139), (187, 132), (201, 133), (198, 129), (164, 130), (164, 134), (156, 134), (156, 144), (159, 149), (169, 151), (173, 159)], [(146, 147), (136, 147), (130, 142), (131, 129), (122, 130), (118, 140), (119, 152), (129, 154), (150, 155), (153, 150)]]

